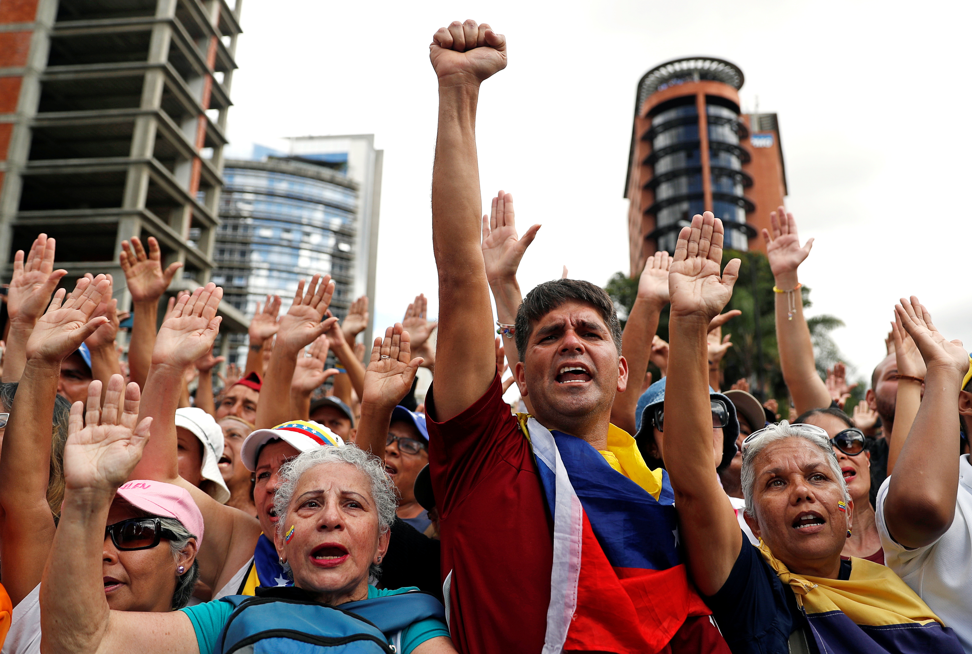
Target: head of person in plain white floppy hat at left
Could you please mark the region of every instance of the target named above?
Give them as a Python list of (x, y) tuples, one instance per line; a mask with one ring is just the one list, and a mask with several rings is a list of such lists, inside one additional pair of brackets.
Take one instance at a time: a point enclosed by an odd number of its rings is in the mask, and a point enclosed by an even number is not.
[(229, 489), (219, 465), (223, 456), (223, 430), (202, 409), (184, 407), (176, 410), (176, 436), (179, 476), (225, 504)]

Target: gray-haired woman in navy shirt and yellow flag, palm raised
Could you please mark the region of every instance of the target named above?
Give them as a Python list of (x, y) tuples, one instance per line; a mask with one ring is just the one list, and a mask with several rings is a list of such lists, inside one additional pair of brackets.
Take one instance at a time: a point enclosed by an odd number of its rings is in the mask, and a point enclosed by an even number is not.
[[(961, 654), (955, 634), (889, 568), (841, 558), (853, 501), (827, 433), (782, 421), (743, 442), (743, 537), (712, 474), (706, 331), (732, 295), (711, 213), (678, 236), (669, 272), (664, 458), (689, 571), (734, 653)], [(671, 404), (671, 406), (670, 406)]]

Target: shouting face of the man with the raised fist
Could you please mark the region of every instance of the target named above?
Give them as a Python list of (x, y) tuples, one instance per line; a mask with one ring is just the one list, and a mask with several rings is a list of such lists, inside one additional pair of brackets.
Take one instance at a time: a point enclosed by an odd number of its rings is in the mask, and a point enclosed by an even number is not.
[(540, 422), (610, 411), (624, 391), (628, 365), (594, 306), (571, 300), (540, 318), (527, 341), (516, 382)]

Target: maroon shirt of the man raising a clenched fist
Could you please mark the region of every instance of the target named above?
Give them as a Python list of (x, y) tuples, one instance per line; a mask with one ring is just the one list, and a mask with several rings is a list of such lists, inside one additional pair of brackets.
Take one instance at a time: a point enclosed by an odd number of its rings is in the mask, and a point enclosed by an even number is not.
[(539, 652), (546, 633), (553, 521), (499, 375), (461, 414), (435, 421), (429, 466), (442, 538), (449, 631), (464, 654)]

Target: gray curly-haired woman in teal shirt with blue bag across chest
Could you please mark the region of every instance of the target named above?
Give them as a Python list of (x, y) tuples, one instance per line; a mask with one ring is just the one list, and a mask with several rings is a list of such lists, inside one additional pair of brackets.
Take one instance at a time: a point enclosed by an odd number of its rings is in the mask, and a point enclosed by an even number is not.
[[(134, 421), (113, 428), (110, 438), (88, 434), (91, 453), (85, 459), (75, 454), (72, 434), (71, 456), (65, 456), (69, 480), (88, 477), (90, 485), (104, 487), (109, 496), (145, 446), (147, 427), (133, 428)], [(137, 454), (126, 455), (130, 460), (119, 455), (124, 460), (108, 468), (88, 463), (107, 459), (121, 443), (123, 450)], [(259, 588), (256, 597), (229, 596), (168, 613), (120, 613), (104, 601), (100, 568), (93, 565), (101, 548), (95, 547), (98, 535), (89, 535), (90, 546), (49, 564), (45, 584), (51, 587), (41, 598), (45, 652), (210, 654), (255, 645), (256, 651), (330, 651), (347, 643), (363, 652), (456, 651), (440, 602), (418, 589), (379, 590), (368, 583), (379, 571), (395, 520), (395, 486), (381, 460), (354, 445), (307, 450), (281, 467), (274, 507), (280, 519), (276, 533), (267, 535), (293, 586), (278, 579), (278, 587)], [(76, 512), (65, 511), (70, 524), (77, 521)], [(60, 545), (58, 552), (65, 542)], [(92, 561), (79, 560), (85, 555)]]

